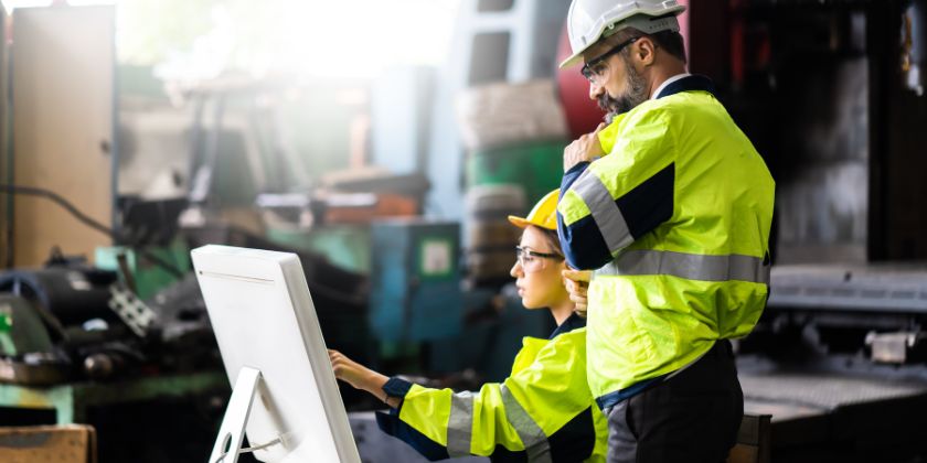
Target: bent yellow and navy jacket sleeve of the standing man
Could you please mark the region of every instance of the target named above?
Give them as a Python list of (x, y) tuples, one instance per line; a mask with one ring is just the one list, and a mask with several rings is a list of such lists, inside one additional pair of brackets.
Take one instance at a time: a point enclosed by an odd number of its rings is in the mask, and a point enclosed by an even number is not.
[(557, 234), (567, 262), (594, 270), (673, 214), (675, 141), (665, 111), (622, 120), (611, 152), (564, 174)]

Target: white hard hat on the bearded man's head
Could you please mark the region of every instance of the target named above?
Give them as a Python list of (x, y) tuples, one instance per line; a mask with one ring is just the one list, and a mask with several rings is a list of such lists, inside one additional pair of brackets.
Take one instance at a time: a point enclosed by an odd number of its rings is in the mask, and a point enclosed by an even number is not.
[(599, 39), (626, 28), (646, 34), (679, 31), (675, 17), (684, 10), (676, 0), (573, 0), (566, 17), (573, 54), (560, 67), (578, 63)]

